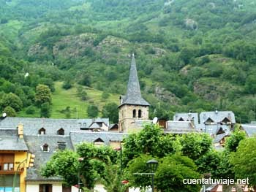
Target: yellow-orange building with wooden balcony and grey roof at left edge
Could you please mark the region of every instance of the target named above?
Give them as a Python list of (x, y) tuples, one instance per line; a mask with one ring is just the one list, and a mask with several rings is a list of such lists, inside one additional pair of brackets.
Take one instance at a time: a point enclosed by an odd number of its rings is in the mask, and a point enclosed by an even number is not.
[(28, 156), (22, 126), (0, 129), (0, 191), (26, 191)]

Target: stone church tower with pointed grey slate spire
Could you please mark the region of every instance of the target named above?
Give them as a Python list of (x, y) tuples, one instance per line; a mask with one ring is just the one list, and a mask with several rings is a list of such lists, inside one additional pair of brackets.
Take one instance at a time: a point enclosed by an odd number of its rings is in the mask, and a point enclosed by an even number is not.
[(132, 64), (129, 71), (127, 94), (120, 96), (119, 131), (127, 132), (134, 127), (135, 120), (148, 120), (148, 107), (150, 104), (142, 98), (138, 79), (135, 56), (132, 54)]

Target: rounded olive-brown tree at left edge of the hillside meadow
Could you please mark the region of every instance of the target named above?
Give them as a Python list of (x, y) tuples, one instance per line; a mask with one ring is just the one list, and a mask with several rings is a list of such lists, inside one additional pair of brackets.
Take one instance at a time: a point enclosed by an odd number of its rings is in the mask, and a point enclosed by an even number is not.
[(51, 93), (50, 93), (50, 88), (48, 87), (48, 85), (42, 85), (42, 84), (37, 85), (34, 100), (39, 105), (46, 103), (46, 102), (48, 102), (50, 104)]

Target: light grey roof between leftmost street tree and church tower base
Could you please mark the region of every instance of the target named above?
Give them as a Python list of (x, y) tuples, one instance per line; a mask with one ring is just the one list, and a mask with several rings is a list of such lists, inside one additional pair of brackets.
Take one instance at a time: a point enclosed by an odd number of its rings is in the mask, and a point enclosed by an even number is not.
[(74, 131), (70, 132), (72, 144), (75, 146), (81, 142), (94, 142), (96, 139), (102, 139), (105, 145), (110, 145), (110, 141), (117, 142), (122, 141), (128, 134), (115, 133), (115, 132), (83, 132)]

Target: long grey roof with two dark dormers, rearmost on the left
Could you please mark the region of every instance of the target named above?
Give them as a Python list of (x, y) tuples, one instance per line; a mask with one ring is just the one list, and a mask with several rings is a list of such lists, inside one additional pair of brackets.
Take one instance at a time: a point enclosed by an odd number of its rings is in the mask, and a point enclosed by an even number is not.
[[(109, 126), (108, 118), (97, 118)], [(1, 128), (17, 128), (18, 124), (23, 124), (24, 134), (37, 135), (40, 128), (45, 128), (47, 135), (56, 135), (60, 128), (64, 129), (64, 134), (69, 135), (70, 131), (79, 131), (80, 128), (89, 128), (94, 119), (50, 119), (50, 118), (4, 118), (0, 120)]]

